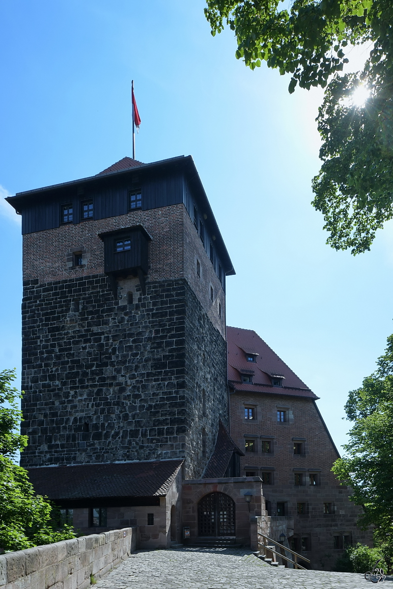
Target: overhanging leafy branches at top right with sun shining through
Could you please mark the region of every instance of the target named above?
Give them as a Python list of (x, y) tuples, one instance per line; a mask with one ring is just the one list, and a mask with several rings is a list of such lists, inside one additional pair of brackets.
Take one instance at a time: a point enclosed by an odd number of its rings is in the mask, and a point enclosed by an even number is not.
[[(228, 24), (236, 57), (254, 70), (262, 61), (290, 74), (289, 92), (326, 88), (319, 109), (321, 171), (313, 206), (323, 213), (328, 242), (353, 254), (369, 249), (393, 217), (393, 2), (391, 0), (207, 0), (212, 34)], [(338, 74), (351, 45), (366, 44), (364, 70)], [(333, 78), (328, 84), (329, 78)], [(362, 107), (350, 100), (364, 85)]]

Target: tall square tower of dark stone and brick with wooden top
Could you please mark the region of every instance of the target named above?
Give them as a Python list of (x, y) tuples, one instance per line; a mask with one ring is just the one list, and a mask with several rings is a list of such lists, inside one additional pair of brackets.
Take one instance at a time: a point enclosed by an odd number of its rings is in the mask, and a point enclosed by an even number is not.
[(225, 277), (193, 160), (124, 158), (18, 193), (21, 465), (184, 459), (202, 476), (227, 425)]

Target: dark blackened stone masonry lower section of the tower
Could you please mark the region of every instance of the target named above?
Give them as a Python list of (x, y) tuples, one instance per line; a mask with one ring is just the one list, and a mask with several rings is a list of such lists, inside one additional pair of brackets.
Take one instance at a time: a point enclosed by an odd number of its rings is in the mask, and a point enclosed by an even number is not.
[(185, 279), (147, 296), (130, 280), (130, 305), (104, 274), (24, 282), (22, 466), (185, 457), (202, 475), (227, 423), (224, 339)]

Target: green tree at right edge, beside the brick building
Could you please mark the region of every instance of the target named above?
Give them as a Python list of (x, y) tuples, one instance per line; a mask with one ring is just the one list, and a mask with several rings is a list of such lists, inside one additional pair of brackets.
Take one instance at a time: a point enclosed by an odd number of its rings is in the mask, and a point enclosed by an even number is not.
[[(352, 487), (350, 497), (362, 505), (359, 525), (376, 528), (375, 540), (388, 564), (393, 560), (393, 335), (388, 337), (385, 354), (378, 358), (377, 370), (363, 385), (349, 393), (347, 418), (354, 422), (349, 432), (345, 456), (333, 465), (343, 484)], [(382, 550), (382, 548), (381, 548)]]

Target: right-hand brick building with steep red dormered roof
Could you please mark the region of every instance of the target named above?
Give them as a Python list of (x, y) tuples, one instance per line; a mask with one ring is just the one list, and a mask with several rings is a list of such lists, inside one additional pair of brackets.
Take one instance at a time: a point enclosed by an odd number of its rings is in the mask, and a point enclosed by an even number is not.
[(371, 537), (356, 526), (361, 509), (349, 501), (351, 490), (331, 471), (339, 454), (318, 396), (255, 331), (227, 327), (227, 347), (230, 435), (243, 451), (241, 472), (263, 481), (270, 533), (285, 523), (286, 545), (312, 568), (331, 568), (345, 544)]

